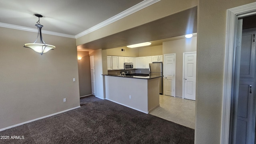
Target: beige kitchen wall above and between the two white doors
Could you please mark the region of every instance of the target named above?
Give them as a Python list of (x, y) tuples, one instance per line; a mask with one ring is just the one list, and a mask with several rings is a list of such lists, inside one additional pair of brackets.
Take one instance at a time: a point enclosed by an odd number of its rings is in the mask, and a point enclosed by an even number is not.
[(176, 54), (176, 96), (178, 97), (182, 97), (183, 52), (196, 52), (196, 37), (163, 42), (163, 54)]

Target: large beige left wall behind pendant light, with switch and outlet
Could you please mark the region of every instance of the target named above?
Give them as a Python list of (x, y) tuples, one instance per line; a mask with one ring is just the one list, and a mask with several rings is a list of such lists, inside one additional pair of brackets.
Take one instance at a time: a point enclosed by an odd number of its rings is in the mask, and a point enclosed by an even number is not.
[(0, 32), (0, 129), (80, 106), (75, 39), (43, 34), (56, 48), (41, 56), (23, 47), (37, 33)]

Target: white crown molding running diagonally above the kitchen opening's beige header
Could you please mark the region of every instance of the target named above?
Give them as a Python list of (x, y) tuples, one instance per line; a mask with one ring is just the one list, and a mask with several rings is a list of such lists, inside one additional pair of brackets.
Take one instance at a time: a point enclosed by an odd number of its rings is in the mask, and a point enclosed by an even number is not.
[(146, 7), (152, 5), (152, 4), (156, 3), (156, 2), (159, 2), (159, 1), (160, 0), (144, 0), (144, 1), (136, 4), (135, 6), (132, 6), (131, 8), (128, 8), (127, 10), (124, 10), (123, 12), (120, 12), (119, 14), (117, 14), (117, 15), (115, 15), (115, 16), (107, 19), (107, 20), (105, 20), (104, 22), (101, 22), (101, 23), (99, 23), (99, 24), (97, 24), (97, 25), (95, 25), (95, 26), (93, 26), (93, 27), (91, 27), (91, 28), (89, 28), (89, 29), (87, 29), (87, 30), (77, 34), (75, 37), (76, 38), (80, 38), (81, 36), (89, 34), (90, 32), (98, 30), (98, 29), (100, 29), (100, 28), (102, 28), (104, 26), (107, 26), (108, 24), (116, 22), (117, 20), (120, 20), (120, 19), (122, 19), (122, 18), (124, 18), (124, 17), (126, 17), (126, 16), (128, 16), (130, 14), (133, 14), (134, 12), (137, 12), (137, 11), (139, 11), (139, 10), (141, 10), (143, 8), (146, 8)]

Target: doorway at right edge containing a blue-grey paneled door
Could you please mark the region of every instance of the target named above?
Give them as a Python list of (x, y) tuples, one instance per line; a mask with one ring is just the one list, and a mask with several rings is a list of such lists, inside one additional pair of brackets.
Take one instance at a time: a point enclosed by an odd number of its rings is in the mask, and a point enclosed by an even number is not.
[(238, 18), (230, 141), (252, 144), (255, 134), (256, 15)]

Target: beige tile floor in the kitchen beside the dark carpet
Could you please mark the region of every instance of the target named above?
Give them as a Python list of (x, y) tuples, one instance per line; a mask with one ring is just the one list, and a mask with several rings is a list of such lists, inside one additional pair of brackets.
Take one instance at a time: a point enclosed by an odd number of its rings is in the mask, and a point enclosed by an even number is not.
[(160, 106), (150, 114), (195, 129), (194, 100), (160, 95)]

